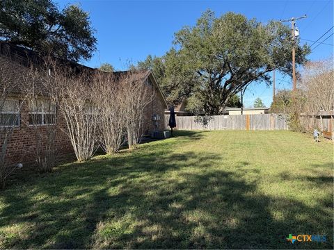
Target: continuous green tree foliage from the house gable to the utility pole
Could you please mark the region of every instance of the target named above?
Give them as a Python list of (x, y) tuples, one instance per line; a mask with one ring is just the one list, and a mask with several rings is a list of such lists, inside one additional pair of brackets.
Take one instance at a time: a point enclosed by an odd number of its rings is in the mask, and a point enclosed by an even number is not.
[(310, 53), (298, 38), (293, 44), (290, 28), (280, 22), (262, 24), (234, 12), (215, 17), (210, 10), (195, 26), (175, 33), (174, 45), (161, 58), (151, 56), (150, 67), (167, 101), (189, 97), (207, 115), (221, 114), (228, 100), (250, 83), (271, 84), (273, 69), (291, 75), (293, 45), (297, 65)]

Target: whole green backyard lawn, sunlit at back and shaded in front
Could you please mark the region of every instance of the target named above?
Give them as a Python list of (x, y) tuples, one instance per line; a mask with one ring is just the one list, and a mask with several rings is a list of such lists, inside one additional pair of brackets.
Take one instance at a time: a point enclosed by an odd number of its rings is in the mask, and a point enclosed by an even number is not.
[[(326, 235), (326, 243), (292, 234)], [(289, 131), (177, 132), (22, 174), (0, 192), (0, 248), (333, 249), (333, 144)]]

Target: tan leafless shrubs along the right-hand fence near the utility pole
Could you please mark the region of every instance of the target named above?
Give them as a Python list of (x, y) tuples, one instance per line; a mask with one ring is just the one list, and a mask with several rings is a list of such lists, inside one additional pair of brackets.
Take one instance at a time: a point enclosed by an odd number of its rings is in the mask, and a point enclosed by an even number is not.
[(334, 109), (334, 69), (333, 58), (309, 62), (303, 68), (298, 88), (280, 90), (271, 112), (288, 115), (289, 129), (307, 132), (319, 129), (319, 119), (315, 116), (321, 111)]

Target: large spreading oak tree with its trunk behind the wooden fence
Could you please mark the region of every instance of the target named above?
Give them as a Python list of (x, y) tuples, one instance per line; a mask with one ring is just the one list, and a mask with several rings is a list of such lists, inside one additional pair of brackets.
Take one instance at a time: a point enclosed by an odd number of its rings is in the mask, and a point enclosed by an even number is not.
[[(298, 42), (296, 63), (303, 64), (309, 49)], [(208, 115), (220, 114), (225, 101), (249, 83), (270, 83), (273, 69), (292, 72), (292, 34), (280, 22), (262, 24), (233, 12), (216, 18), (208, 10), (196, 26), (175, 34), (175, 44), (202, 83), (203, 111)]]

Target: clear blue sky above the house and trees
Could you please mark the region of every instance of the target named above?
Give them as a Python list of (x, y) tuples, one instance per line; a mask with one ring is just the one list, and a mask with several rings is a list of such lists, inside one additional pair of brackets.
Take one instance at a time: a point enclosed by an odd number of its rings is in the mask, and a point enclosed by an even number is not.
[[(149, 54), (162, 56), (170, 49), (173, 34), (182, 26), (196, 23), (208, 8), (216, 15), (234, 11), (255, 17), (260, 22), (270, 19), (289, 19), (308, 15), (297, 21), (300, 36), (315, 41), (333, 26), (333, 0), (304, 1), (107, 1), (107, 0), (58, 0), (60, 7), (79, 3), (90, 13), (96, 29), (97, 51), (89, 61), (81, 62), (90, 67), (111, 63), (116, 69), (125, 69), (129, 63), (144, 60)], [(287, 23), (287, 25), (289, 25)], [(319, 42), (333, 34), (333, 28)], [(302, 40), (302, 42), (307, 42)], [(325, 43), (333, 44), (333, 35)], [(308, 42), (312, 44), (312, 42)], [(317, 44), (313, 45), (315, 48)], [(309, 56), (319, 60), (333, 55), (333, 46), (320, 44)], [(276, 74), (277, 89), (291, 88), (289, 76)], [(260, 97), (266, 106), (272, 101), (272, 87), (253, 83), (245, 94), (245, 106), (253, 106)]]

